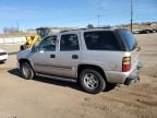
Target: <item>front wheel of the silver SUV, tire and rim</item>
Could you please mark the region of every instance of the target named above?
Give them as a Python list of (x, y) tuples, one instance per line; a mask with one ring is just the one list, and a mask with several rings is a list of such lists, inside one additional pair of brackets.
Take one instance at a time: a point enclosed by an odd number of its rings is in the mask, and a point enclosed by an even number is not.
[(32, 66), (28, 62), (22, 62), (20, 69), (24, 79), (32, 80), (35, 76)]

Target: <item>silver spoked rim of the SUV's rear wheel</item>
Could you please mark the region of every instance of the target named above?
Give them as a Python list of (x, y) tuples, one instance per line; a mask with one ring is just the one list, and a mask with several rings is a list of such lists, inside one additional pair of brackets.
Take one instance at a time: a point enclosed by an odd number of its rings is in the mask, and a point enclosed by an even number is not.
[(95, 90), (98, 86), (98, 79), (93, 73), (87, 73), (84, 75), (84, 84), (88, 88)]

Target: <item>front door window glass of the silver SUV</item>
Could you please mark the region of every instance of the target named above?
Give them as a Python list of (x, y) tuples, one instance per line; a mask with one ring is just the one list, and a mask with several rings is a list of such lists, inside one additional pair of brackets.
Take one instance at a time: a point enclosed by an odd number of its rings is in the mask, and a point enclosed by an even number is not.
[(46, 37), (46, 38), (39, 44), (39, 50), (44, 50), (44, 51), (55, 51), (55, 50), (56, 50), (56, 40), (57, 40), (57, 36)]

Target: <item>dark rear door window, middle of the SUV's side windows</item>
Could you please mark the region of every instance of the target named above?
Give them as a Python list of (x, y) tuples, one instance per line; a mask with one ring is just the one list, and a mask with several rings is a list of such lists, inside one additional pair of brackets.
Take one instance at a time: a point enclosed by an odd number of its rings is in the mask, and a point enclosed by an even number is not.
[(60, 50), (78, 50), (78, 38), (75, 34), (67, 34), (61, 36)]

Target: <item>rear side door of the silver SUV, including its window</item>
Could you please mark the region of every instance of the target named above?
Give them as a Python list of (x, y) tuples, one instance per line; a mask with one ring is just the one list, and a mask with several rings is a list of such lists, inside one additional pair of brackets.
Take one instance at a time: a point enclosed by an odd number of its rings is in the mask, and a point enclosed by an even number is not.
[(77, 64), (81, 60), (80, 34), (61, 34), (59, 51), (56, 54), (56, 74), (75, 78)]

